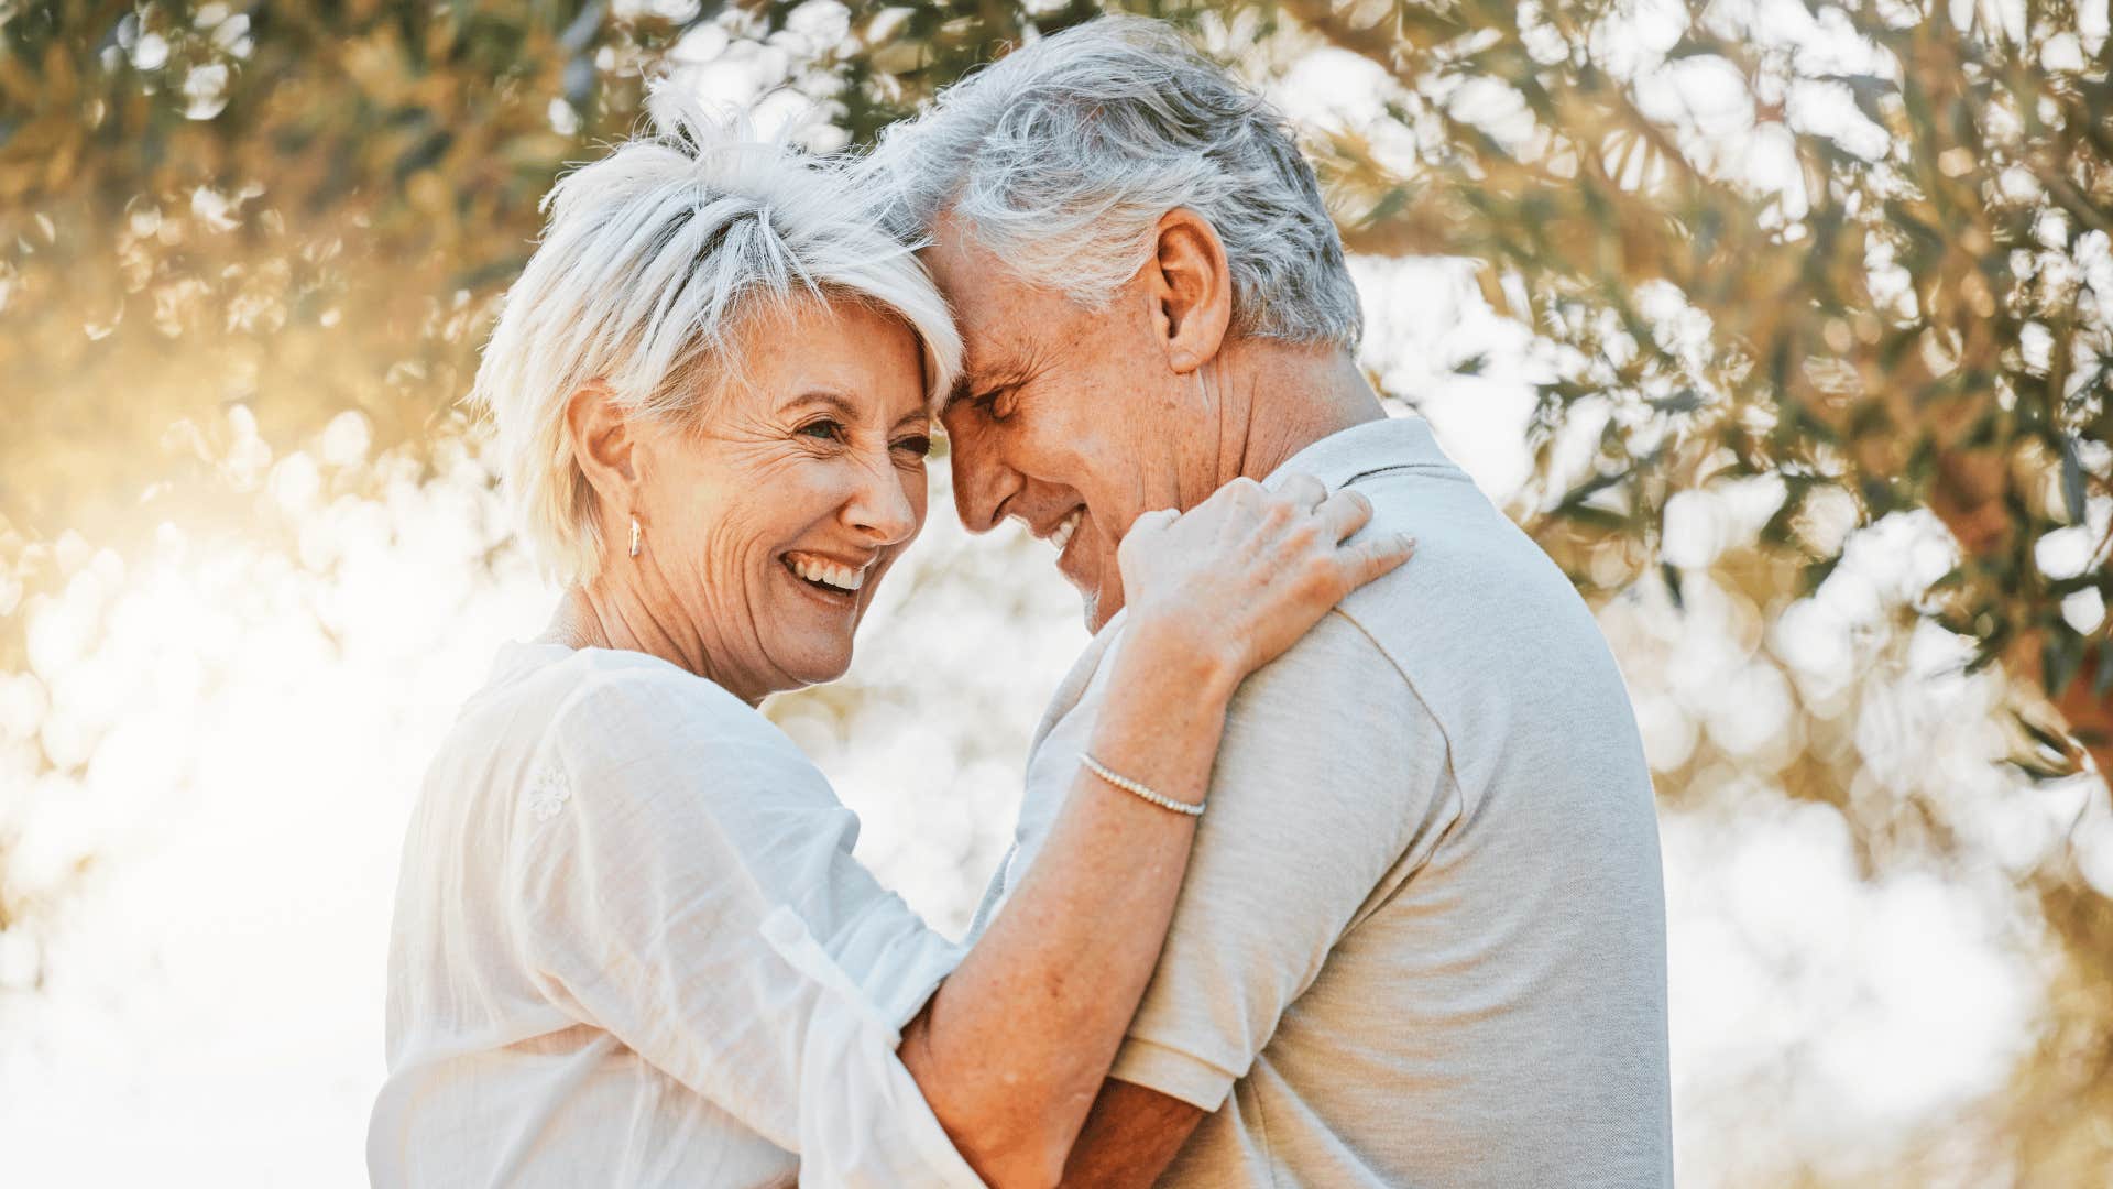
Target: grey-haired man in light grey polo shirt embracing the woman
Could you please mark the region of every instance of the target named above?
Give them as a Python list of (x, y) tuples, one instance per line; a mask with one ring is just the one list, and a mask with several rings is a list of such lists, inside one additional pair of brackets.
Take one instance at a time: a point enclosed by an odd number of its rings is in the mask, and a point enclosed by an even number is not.
[(987, 908), (1078, 770), (1141, 512), (1306, 472), (1420, 542), (1232, 705), (1067, 1183), (1669, 1183), (1665, 903), (1621, 675), (1547, 556), (1380, 408), (1283, 121), (1168, 28), (1101, 19), (953, 87), (866, 169), (968, 345), (942, 415), (961, 520), (1050, 539), (1097, 630)]

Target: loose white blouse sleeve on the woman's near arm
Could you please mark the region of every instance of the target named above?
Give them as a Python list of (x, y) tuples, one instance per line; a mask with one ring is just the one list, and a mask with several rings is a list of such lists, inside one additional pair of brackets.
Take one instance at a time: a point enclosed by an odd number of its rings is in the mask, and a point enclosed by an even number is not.
[(858, 819), (763, 715), (596, 673), (516, 808), (543, 992), (792, 1151), (801, 1185), (980, 1185), (896, 1058), (959, 950), (852, 859)]

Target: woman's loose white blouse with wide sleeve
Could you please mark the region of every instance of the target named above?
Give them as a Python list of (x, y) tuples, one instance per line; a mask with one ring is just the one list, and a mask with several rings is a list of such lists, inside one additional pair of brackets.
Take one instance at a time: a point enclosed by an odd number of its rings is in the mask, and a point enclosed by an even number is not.
[(374, 1185), (980, 1185), (896, 1060), (961, 952), (856, 838), (718, 685), (507, 645), (404, 844)]

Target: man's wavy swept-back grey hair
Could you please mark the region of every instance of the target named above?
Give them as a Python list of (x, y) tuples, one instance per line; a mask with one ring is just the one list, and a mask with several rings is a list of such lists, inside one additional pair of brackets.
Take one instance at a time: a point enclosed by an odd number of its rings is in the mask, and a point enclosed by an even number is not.
[(1188, 207), (1232, 269), (1232, 330), (1357, 349), (1342, 237), (1285, 118), (1171, 25), (1099, 17), (890, 127), (862, 169), (896, 235), (951, 216), (1021, 279), (1103, 309)]

